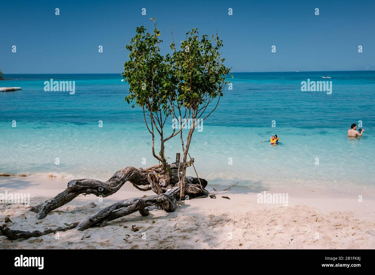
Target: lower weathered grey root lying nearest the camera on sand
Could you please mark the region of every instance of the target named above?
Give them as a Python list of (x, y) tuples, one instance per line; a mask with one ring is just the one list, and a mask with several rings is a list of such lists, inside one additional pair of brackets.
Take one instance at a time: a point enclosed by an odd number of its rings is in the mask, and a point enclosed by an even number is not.
[(166, 193), (160, 195), (150, 196), (149, 198), (132, 198), (123, 201), (116, 202), (113, 205), (103, 208), (98, 212), (90, 215), (82, 221), (76, 221), (69, 226), (57, 227), (55, 229), (46, 229), (44, 231), (21, 231), (11, 230), (5, 225), (0, 226), (0, 235), (6, 236), (10, 240), (16, 240), (21, 238), (40, 237), (50, 233), (58, 231), (66, 231), (70, 229), (77, 229), (79, 231), (86, 230), (90, 226), (95, 224), (101, 224), (101, 227), (105, 226), (108, 221), (118, 219), (120, 217), (132, 214), (139, 211), (142, 216), (147, 216), (148, 207), (153, 205), (161, 205), (166, 211), (174, 211), (176, 208), (176, 198), (180, 195), (180, 187), (174, 187), (168, 190)]

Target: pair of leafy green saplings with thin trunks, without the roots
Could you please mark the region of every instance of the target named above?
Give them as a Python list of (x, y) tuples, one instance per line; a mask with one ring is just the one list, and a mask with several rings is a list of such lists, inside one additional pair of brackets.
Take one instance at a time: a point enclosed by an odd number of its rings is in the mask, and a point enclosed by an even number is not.
[[(154, 22), (155, 19), (151, 19)], [(207, 35), (199, 40), (197, 29), (186, 33), (186, 39), (181, 41), (181, 49), (177, 51), (174, 40), (171, 43), (172, 55), (160, 55), (160, 31), (154, 23), (154, 32), (150, 34), (142, 27), (136, 28), (136, 36), (126, 49), (130, 51), (130, 60), (124, 63), (124, 79), (129, 83), (129, 94), (126, 101), (135, 102), (143, 109), (144, 121), (152, 135), (152, 153), (161, 163), (166, 183), (169, 183), (167, 158), (165, 157), (165, 142), (180, 133), (183, 150), (182, 178), (180, 179), (181, 193), (184, 197), (186, 179), (187, 155), (192, 134), (197, 126), (197, 120), (202, 122), (216, 109), (222, 91), (228, 83), (229, 68), (223, 65), (225, 58), (220, 58), (222, 40), (216, 34), (215, 45), (211, 44)], [(173, 39), (173, 33), (172, 33)], [(215, 99), (213, 109), (207, 109)], [(135, 106), (133, 104), (132, 107)], [(167, 117), (184, 121), (178, 131), (165, 136), (164, 126)], [(191, 118), (190, 118), (191, 116)], [(186, 141), (183, 138), (183, 128), (192, 121), (187, 132)], [(154, 150), (155, 133), (160, 136), (160, 152)], [(178, 175), (179, 177), (179, 175)]]

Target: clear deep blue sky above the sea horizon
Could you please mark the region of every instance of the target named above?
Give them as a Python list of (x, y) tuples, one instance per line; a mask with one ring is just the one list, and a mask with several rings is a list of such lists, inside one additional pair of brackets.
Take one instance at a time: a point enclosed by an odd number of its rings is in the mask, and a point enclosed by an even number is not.
[(208, 35), (217, 29), (233, 72), (375, 69), (374, 0), (108, 2), (3, 1), (0, 68), (4, 73), (121, 73), (135, 27), (151, 29), (149, 18), (156, 18), (164, 53), (172, 27), (175, 41), (191, 28)]

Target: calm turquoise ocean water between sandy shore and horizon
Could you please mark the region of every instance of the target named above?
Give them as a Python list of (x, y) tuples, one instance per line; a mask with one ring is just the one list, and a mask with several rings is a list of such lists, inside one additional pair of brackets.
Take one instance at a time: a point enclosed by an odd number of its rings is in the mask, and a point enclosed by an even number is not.
[[(327, 74), (332, 94), (301, 91), (301, 81), (320, 81)], [(233, 90), (224, 91), (203, 131), (193, 135), (190, 155), (200, 177), (209, 184), (240, 182), (255, 189), (301, 183), (340, 190), (375, 187), (375, 71), (233, 76)], [(22, 91), (0, 93), (0, 173), (107, 180), (124, 166), (157, 163), (141, 109), (124, 100), (128, 86), (121, 74), (5, 77), (10, 80), (0, 86)], [(43, 82), (51, 78), (75, 81), (75, 94), (45, 92)], [(347, 130), (359, 120), (365, 134), (348, 139)], [(281, 144), (261, 143), (274, 133)], [(176, 152), (181, 152), (177, 137), (166, 144), (171, 160)]]

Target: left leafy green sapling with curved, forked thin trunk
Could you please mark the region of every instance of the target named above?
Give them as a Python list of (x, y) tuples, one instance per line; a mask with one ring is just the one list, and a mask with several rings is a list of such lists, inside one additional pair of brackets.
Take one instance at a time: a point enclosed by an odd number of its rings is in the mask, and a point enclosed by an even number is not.
[[(151, 19), (154, 22), (155, 19)], [(163, 166), (166, 183), (169, 183), (167, 158), (165, 157), (165, 142), (177, 135), (182, 129), (165, 136), (164, 125), (169, 115), (175, 116), (176, 77), (172, 69), (171, 56), (160, 55), (160, 31), (154, 23), (154, 32), (150, 34), (141, 26), (136, 28), (136, 36), (126, 49), (130, 51), (130, 60), (124, 63), (124, 79), (129, 83), (127, 103), (135, 102), (143, 109), (144, 121), (152, 135), (152, 154)], [(132, 107), (135, 106), (132, 105)], [(178, 104), (177, 104), (178, 105)], [(185, 117), (186, 117), (185, 113)], [(160, 136), (160, 152), (154, 150), (155, 133)]]

